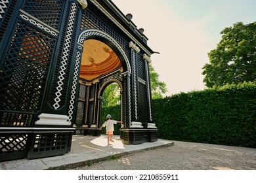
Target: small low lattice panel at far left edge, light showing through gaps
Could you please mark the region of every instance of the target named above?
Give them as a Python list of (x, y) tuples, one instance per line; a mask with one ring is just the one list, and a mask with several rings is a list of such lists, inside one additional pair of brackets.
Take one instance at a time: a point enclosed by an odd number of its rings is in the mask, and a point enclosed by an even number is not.
[(0, 154), (7, 154), (11, 152), (24, 152), (28, 135), (5, 135), (1, 134), (0, 138)]

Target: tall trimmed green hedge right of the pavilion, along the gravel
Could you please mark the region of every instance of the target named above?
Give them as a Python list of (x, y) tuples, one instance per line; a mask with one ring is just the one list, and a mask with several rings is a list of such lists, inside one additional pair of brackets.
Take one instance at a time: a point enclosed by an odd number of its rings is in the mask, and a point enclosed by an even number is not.
[(256, 84), (179, 93), (153, 101), (158, 137), (256, 148)]

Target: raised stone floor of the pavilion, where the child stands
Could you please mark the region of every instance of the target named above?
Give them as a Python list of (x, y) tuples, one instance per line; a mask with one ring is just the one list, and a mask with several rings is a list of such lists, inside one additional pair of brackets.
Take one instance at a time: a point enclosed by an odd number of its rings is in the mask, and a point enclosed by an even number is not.
[(103, 159), (114, 159), (116, 156), (149, 150), (163, 146), (173, 146), (172, 141), (158, 139), (156, 142), (143, 144), (123, 144), (119, 136), (114, 136), (113, 146), (107, 146), (107, 136), (100, 137), (74, 135), (71, 152), (62, 156), (39, 159), (18, 159), (0, 163), (0, 170), (44, 170), (44, 169), (73, 169), (90, 165)]

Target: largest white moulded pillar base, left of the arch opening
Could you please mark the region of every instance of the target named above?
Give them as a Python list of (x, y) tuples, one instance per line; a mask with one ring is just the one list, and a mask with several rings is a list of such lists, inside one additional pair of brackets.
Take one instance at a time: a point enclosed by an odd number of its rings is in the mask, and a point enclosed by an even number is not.
[(42, 113), (38, 117), (36, 125), (71, 125), (66, 115)]

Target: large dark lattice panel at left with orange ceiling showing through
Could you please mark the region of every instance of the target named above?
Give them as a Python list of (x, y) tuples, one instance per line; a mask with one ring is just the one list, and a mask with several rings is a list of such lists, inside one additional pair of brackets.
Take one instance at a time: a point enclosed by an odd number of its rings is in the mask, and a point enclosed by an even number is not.
[(37, 112), (41, 107), (54, 39), (18, 23), (2, 65), (0, 109)]

